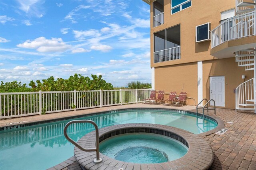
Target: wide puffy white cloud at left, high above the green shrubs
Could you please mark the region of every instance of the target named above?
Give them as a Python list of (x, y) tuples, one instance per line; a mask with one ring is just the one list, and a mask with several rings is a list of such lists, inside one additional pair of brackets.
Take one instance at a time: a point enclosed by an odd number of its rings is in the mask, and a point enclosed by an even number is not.
[(26, 40), (26, 42), (18, 44), (17, 47), (34, 48), (39, 52), (63, 52), (69, 49), (71, 45), (67, 45), (61, 38), (48, 40), (44, 37), (39, 37), (33, 41)]

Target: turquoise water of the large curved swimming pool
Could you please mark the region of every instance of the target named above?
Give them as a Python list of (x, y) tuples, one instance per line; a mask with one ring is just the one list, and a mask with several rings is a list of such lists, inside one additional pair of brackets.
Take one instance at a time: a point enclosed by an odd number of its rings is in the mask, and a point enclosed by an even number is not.
[[(182, 128), (199, 134), (217, 127), (214, 121), (196, 118), (180, 111), (131, 110), (111, 111), (101, 115), (87, 116), (99, 128), (125, 123), (154, 123)], [(74, 120), (58, 121), (24, 127), (19, 130), (0, 131), (0, 170), (47, 169), (74, 155), (74, 145), (66, 140), (63, 129)], [(75, 141), (94, 130), (91, 124), (72, 124), (68, 135)]]

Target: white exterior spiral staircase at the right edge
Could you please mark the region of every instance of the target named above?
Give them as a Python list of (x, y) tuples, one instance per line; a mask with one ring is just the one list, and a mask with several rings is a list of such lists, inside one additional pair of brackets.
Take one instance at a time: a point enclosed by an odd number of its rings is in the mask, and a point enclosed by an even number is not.
[[(236, 0), (236, 16), (242, 19), (236, 21), (236, 37), (246, 37), (256, 33), (256, 17), (250, 15), (256, 11), (256, 0)], [(249, 14), (249, 15), (248, 15)], [(236, 110), (250, 110), (256, 113), (256, 47), (236, 51), (238, 66), (245, 67), (246, 71), (253, 70), (254, 78), (245, 81), (236, 88)]]

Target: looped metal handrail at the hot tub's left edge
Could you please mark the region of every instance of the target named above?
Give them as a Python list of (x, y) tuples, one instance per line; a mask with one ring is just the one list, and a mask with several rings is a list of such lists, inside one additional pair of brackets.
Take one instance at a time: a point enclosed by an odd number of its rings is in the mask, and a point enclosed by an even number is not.
[[(79, 145), (78, 143), (76, 143), (74, 140), (72, 140), (68, 134), (67, 134), (67, 129), (68, 126), (73, 124), (73, 123), (91, 123), (92, 125), (94, 125), (95, 128), (95, 133), (96, 133), (96, 148), (83, 148), (81, 145)], [(94, 121), (90, 121), (90, 120), (78, 120), (78, 121), (70, 121), (66, 124), (66, 126), (64, 127), (64, 136), (66, 137), (66, 139), (68, 141), (70, 141), (72, 144), (74, 144), (76, 147), (78, 147), (79, 149), (81, 149), (82, 151), (85, 152), (92, 152), (92, 151), (96, 151), (96, 159), (94, 159), (94, 163), (100, 163), (102, 162), (102, 158), (100, 158), (100, 150), (99, 150), (99, 129), (97, 124)]]

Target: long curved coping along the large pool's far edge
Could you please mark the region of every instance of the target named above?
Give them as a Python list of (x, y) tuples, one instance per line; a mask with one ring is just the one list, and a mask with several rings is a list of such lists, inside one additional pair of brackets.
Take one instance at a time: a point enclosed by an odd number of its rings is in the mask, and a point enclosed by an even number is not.
[[(81, 118), (81, 117), (86, 117), (86, 116), (93, 116), (93, 115), (100, 115), (100, 114), (107, 114), (107, 113), (114, 113), (117, 111), (128, 111), (128, 110), (148, 110), (148, 109), (152, 109), (152, 110), (163, 110), (163, 111), (176, 111), (178, 113), (178, 111), (183, 111), (185, 113), (190, 113), (192, 115), (196, 115), (195, 112), (192, 111), (186, 111), (186, 110), (182, 110), (182, 109), (169, 109), (169, 108), (161, 108), (161, 107), (154, 107), (154, 108), (150, 108), (150, 107), (131, 107), (131, 108), (124, 108), (124, 109), (111, 109), (108, 111), (100, 111), (100, 112), (91, 112), (91, 113), (86, 113), (86, 114), (81, 114), (81, 115), (74, 115), (74, 116), (67, 116), (67, 117), (61, 117), (61, 118), (54, 118), (54, 119), (46, 119), (43, 121), (31, 121), (31, 122), (27, 122), (27, 123), (15, 123), (14, 125), (24, 125), (24, 127), (28, 127), (28, 126), (33, 126), (33, 125), (40, 125), (43, 123), (52, 123), (52, 122), (57, 122), (57, 121), (64, 121), (67, 119), (75, 119), (75, 118)], [(181, 114), (181, 113), (179, 113)], [(202, 113), (198, 113), (198, 117), (202, 118), (203, 115)], [(199, 136), (207, 136), (209, 134), (212, 134), (214, 132), (218, 132), (219, 130), (221, 130), (222, 128), (224, 128), (225, 124), (224, 122), (219, 119), (218, 117), (214, 117), (214, 116), (210, 116), (210, 115), (204, 115), (204, 117), (206, 119), (210, 119), (212, 121), (214, 121), (215, 123), (218, 124), (218, 126), (212, 130), (209, 130), (207, 132), (203, 132), (198, 134)], [(12, 127), (14, 125), (7, 125), (7, 126), (0, 126), (0, 131), (4, 130), (4, 128), (6, 127)]]

